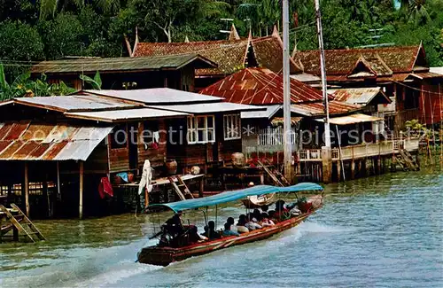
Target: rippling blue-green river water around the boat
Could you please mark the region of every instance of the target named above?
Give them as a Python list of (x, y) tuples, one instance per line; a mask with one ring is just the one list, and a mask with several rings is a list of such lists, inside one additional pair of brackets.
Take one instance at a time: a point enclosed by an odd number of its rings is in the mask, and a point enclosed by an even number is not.
[[(296, 228), (166, 268), (135, 260), (152, 243), (146, 240), (152, 222), (167, 215), (37, 222), (49, 241), (0, 244), (0, 286), (443, 287), (439, 168), (325, 191), (325, 206)], [(237, 205), (220, 211), (222, 217), (244, 212)], [(188, 216), (202, 224), (201, 214)]]

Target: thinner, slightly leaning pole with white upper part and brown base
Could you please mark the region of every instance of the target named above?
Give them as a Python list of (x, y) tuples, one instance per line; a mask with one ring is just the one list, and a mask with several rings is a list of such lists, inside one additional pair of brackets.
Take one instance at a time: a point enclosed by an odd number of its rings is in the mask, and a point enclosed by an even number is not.
[(330, 152), (330, 112), (328, 105), (328, 88), (326, 84), (326, 63), (324, 60), (322, 14), (320, 0), (315, 0), (315, 18), (317, 22), (318, 48), (320, 50), (320, 68), (322, 73), (322, 92), (324, 105), (324, 146), (322, 148), (323, 183), (332, 181), (332, 155)]

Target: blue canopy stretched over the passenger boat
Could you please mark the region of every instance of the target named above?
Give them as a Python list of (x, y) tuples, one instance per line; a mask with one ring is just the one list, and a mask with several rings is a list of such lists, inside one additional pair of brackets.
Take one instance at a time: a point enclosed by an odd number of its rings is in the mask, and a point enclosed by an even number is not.
[(276, 187), (269, 185), (259, 185), (243, 190), (226, 191), (217, 195), (209, 196), (206, 198), (188, 199), (178, 202), (166, 203), (166, 204), (153, 204), (149, 208), (155, 207), (167, 207), (174, 212), (180, 210), (190, 210), (199, 207), (215, 206), (223, 203), (236, 201), (238, 199), (244, 199), (248, 196), (260, 196), (272, 193), (287, 193), (287, 192), (299, 192), (299, 191), (323, 191), (323, 187), (316, 183), (299, 183), (289, 187)]

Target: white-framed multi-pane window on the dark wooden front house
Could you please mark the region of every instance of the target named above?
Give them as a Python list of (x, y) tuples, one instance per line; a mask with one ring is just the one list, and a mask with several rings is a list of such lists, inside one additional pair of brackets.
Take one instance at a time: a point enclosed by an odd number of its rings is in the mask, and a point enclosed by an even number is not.
[(188, 118), (188, 144), (215, 142), (214, 116)]

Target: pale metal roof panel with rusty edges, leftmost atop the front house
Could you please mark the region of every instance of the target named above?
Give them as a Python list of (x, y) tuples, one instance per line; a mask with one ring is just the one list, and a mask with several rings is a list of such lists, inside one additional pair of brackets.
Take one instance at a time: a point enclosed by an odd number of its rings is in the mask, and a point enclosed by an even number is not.
[(31, 105), (59, 112), (104, 111), (128, 109), (141, 106), (109, 97), (89, 95), (54, 96), (54, 97), (20, 97), (14, 98), (14, 103)]

